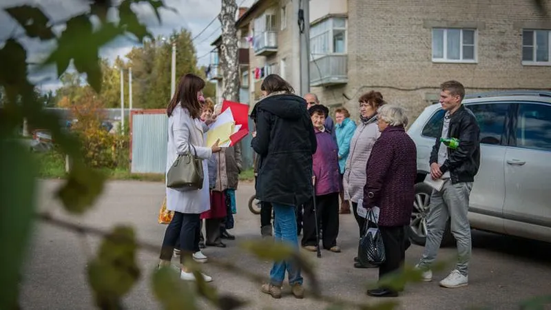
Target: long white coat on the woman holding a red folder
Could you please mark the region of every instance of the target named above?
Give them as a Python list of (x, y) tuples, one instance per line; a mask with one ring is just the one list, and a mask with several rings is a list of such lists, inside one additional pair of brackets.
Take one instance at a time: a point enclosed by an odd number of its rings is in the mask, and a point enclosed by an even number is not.
[[(205, 174), (202, 189), (180, 192), (167, 187), (167, 209), (180, 213), (200, 214), (210, 209), (209, 168), (207, 160), (212, 150), (205, 147), (204, 134), (209, 130), (199, 118), (191, 118), (189, 111), (178, 103), (168, 118), (167, 173), (176, 161), (178, 154), (187, 154), (189, 145), (193, 145), (196, 155), (201, 158)], [(193, 147), (191, 147), (193, 152)]]

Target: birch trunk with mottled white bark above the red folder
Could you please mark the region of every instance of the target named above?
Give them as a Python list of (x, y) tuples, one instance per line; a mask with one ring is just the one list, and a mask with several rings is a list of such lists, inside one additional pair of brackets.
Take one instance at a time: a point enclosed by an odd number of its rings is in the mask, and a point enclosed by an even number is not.
[(238, 39), (236, 29), (236, 0), (222, 0), (220, 23), (222, 24), (222, 45), (220, 45), (220, 66), (224, 92), (222, 98), (230, 101), (239, 101), (239, 63)]

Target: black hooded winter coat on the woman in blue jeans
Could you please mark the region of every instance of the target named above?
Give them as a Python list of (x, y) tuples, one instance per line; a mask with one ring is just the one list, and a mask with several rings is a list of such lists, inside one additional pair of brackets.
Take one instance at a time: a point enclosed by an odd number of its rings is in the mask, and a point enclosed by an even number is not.
[(258, 154), (256, 198), (267, 203), (302, 205), (312, 196), (315, 139), (306, 101), (293, 94), (275, 94), (259, 101), (251, 118)]

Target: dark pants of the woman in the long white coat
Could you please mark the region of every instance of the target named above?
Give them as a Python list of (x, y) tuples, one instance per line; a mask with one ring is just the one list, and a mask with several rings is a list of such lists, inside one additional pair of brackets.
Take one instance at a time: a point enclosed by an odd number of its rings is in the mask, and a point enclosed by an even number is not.
[(180, 239), (181, 263), (184, 262), (185, 256), (190, 257), (191, 254), (199, 251), (200, 224), (199, 214), (174, 212), (165, 231), (163, 246), (160, 249), (160, 259), (171, 260), (178, 238)]

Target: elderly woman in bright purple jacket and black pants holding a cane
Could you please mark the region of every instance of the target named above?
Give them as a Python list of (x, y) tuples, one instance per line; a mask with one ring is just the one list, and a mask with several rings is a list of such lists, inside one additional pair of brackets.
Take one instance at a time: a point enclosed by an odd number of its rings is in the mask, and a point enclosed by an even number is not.
[[(312, 105), (308, 110), (312, 119), (315, 139), (318, 149), (313, 155), (313, 183), (315, 187), (315, 201), (318, 211), (318, 221), (323, 231), (322, 244), (324, 249), (338, 253), (337, 236), (339, 234), (339, 148), (333, 139), (331, 132), (327, 131), (324, 122), (329, 114), (329, 109), (324, 105)], [(304, 205), (302, 217), (304, 234), (302, 247), (309, 251), (317, 251), (315, 231), (315, 216), (313, 201)]]

